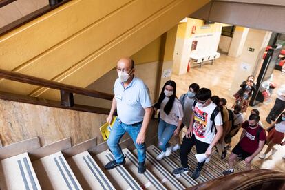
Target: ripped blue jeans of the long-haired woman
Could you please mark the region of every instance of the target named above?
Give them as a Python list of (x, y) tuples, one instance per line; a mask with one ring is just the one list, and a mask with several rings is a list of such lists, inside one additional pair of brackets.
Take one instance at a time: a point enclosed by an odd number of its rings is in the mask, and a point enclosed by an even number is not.
[(166, 151), (166, 149), (170, 146), (168, 141), (173, 135), (175, 129), (176, 129), (175, 125), (166, 123), (164, 120), (160, 118), (158, 124), (158, 147), (162, 151)]

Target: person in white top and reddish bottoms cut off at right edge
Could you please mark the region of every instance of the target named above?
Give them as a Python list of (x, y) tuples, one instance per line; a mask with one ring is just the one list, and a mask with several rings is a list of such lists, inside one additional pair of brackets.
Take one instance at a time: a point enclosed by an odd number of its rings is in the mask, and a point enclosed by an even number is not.
[(268, 136), (266, 138), (266, 145), (267, 149), (264, 152), (264, 154), (260, 155), (260, 159), (264, 159), (266, 157), (266, 154), (268, 154), (269, 151), (272, 152), (271, 154), (275, 154), (277, 149), (275, 149), (273, 146), (276, 144), (282, 145), (282, 140), (284, 138), (284, 133), (285, 133), (285, 112), (283, 112), (279, 118), (276, 120), (275, 123), (272, 123), (267, 129), (268, 131)]

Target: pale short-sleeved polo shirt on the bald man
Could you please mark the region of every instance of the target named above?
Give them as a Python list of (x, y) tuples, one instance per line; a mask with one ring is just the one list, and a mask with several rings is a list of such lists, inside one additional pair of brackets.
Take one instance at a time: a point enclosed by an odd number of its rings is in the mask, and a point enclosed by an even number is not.
[(145, 116), (144, 108), (152, 106), (149, 89), (140, 78), (134, 77), (126, 88), (117, 78), (114, 85), (114, 96), (118, 118), (127, 125), (142, 121)]

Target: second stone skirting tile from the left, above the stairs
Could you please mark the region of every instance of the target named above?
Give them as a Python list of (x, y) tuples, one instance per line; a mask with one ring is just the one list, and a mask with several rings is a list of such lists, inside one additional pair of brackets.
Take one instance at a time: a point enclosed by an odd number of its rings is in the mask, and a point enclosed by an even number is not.
[(28, 151), (31, 160), (38, 160), (45, 156), (49, 156), (50, 154), (54, 154), (58, 151), (62, 151), (64, 149), (68, 149), (71, 147), (71, 139), (64, 138), (63, 140), (59, 140), (50, 145), (45, 145), (43, 147), (39, 147), (38, 149), (34, 149), (32, 151)]

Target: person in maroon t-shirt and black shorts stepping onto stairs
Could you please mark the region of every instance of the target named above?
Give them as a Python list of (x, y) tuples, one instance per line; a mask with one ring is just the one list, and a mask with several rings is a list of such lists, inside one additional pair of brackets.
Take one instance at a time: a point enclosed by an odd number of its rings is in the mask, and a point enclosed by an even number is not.
[(251, 114), (249, 120), (242, 124), (242, 134), (240, 142), (233, 148), (229, 156), (229, 170), (222, 172), (224, 175), (233, 173), (233, 163), (239, 154), (242, 154), (242, 160), (246, 162), (246, 170), (251, 169), (251, 160), (262, 151), (266, 140), (265, 130), (258, 125), (260, 116)]

